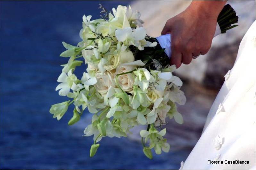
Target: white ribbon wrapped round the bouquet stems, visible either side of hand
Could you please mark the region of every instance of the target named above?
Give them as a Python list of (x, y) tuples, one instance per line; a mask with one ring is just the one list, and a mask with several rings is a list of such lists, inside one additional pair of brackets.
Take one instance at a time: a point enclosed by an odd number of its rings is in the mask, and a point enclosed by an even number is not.
[[(221, 30), (220, 30), (219, 24), (217, 24), (215, 34), (213, 37), (216, 37), (219, 34), (221, 34)], [(165, 48), (164, 52), (170, 58), (171, 57), (171, 34), (161, 35), (159, 37), (156, 37), (156, 39), (161, 45), (161, 47)]]

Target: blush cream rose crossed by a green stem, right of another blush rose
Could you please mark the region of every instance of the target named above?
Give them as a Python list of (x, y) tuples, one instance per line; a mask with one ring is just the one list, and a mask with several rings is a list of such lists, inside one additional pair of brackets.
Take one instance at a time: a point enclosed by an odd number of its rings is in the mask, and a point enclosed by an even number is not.
[[(134, 66), (119, 66), (116, 69), (116, 74), (129, 72), (134, 69)], [(134, 75), (132, 73), (120, 75), (118, 76), (117, 82), (124, 91), (129, 92), (133, 89)]]

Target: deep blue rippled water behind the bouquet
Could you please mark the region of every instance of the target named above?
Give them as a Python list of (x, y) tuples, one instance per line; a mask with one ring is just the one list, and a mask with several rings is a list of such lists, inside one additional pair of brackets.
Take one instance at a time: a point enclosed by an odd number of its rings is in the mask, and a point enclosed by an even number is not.
[(59, 57), (61, 42), (80, 41), (82, 16), (98, 18), (99, 3), (111, 10), (130, 1), (0, 2), (1, 169), (177, 169), (186, 159), (189, 151), (149, 160), (141, 143), (127, 138), (104, 138), (90, 158), (92, 137), (67, 125), (72, 109), (60, 121), (49, 113), (52, 104), (66, 100), (54, 90), (60, 64), (67, 62)]

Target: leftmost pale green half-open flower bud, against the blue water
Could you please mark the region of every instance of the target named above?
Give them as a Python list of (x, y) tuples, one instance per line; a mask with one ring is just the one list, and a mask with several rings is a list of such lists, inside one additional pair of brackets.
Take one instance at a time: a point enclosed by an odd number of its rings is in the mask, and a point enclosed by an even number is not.
[(70, 100), (52, 105), (50, 108), (50, 113), (53, 114), (53, 118), (57, 117), (57, 120), (60, 120), (68, 110), (69, 102)]

